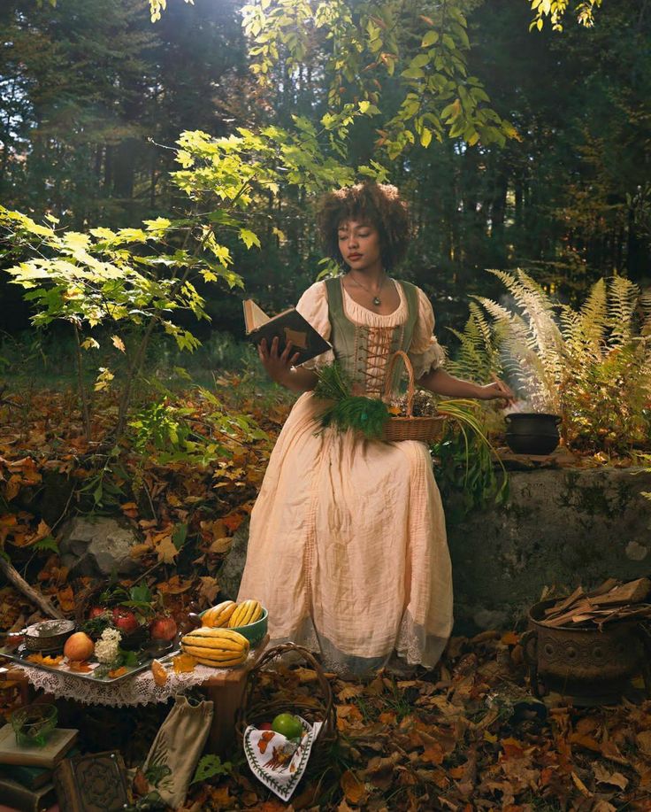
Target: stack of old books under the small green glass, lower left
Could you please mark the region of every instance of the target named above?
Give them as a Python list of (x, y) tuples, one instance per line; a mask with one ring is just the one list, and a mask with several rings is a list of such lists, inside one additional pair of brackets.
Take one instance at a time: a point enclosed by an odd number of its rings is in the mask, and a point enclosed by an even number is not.
[(11, 724), (0, 728), (0, 812), (57, 809), (53, 776), (78, 731), (57, 728), (45, 746), (19, 747)]

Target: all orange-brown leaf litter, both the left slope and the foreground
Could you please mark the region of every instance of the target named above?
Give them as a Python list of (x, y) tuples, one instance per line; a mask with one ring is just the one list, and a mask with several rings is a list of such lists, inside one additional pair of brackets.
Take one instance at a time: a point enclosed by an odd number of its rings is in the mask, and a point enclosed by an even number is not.
[[(210, 434), (208, 406), (192, 396), (184, 406), (193, 430)], [(107, 399), (96, 410), (98, 444), (113, 408)], [(72, 614), (88, 579), (70, 582), (57, 534), (66, 518), (88, 512), (88, 494), (102, 482), (106, 490), (91, 507), (117, 509), (140, 530), (142, 545), (134, 554), (149, 586), (172, 610), (211, 605), (218, 567), (249, 513), (272, 437), (287, 414), (287, 403), (262, 406), (255, 396), (238, 408), (253, 415), (266, 438), (244, 443), (234, 427), (219, 435), (225, 452), (205, 464), (161, 462), (128, 445), (119, 464), (107, 464), (83, 437), (71, 395), (12, 397), (0, 422), (0, 545), (31, 583)], [(74, 485), (54, 512), (42, 499), (52, 473)], [(89, 480), (94, 491), (83, 490)], [(0, 599), (1, 628), (35, 619), (34, 607), (11, 587), (0, 590)], [(527, 692), (515, 632), (453, 638), (439, 666), (413, 678), (383, 672), (365, 681), (334, 675), (330, 681), (339, 741), (327, 769), (308, 775), (291, 804), (257, 784), (234, 750), (226, 771), (191, 787), (186, 808), (651, 810), (651, 702), (640, 685), (614, 707), (573, 708), (558, 696), (542, 706)], [(310, 697), (315, 683), (311, 669), (280, 665), (265, 672), (261, 690), (291, 705), (297, 694)], [(0, 710), (7, 713), (11, 696), (2, 697)], [(87, 708), (78, 721), (91, 749), (97, 730), (100, 749), (128, 741), (126, 760), (136, 766), (165, 712), (138, 708), (126, 719), (110, 708)], [(74, 722), (74, 711), (69, 715)]]

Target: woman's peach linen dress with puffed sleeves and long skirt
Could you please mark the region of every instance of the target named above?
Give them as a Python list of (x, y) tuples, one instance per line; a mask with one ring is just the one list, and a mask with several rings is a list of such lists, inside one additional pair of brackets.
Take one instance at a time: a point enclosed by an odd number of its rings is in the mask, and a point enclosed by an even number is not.
[[(344, 318), (367, 336), (367, 368), (356, 383), (369, 397), (383, 391), (390, 354), (383, 350), (409, 315), (405, 290), (396, 287), (400, 305), (380, 315), (341, 285)], [(444, 354), (432, 305), (415, 290), (408, 354), (419, 377)], [(306, 290), (297, 309), (330, 339), (325, 282)], [(304, 366), (332, 363), (337, 353), (333, 342), (333, 351)], [(320, 430), (319, 404), (305, 392), (280, 432), (251, 514), (238, 600), (267, 607), (272, 645), (292, 640), (339, 673), (378, 669), (394, 651), (431, 668), (452, 628), (452, 580), (428, 447)]]

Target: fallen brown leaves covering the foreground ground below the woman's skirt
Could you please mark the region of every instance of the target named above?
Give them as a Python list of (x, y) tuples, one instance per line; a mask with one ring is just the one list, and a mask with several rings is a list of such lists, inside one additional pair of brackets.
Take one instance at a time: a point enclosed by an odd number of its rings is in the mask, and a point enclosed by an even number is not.
[[(554, 694), (539, 702), (515, 632), (452, 638), (439, 666), (414, 678), (330, 680), (340, 739), (291, 804), (234, 756), (232, 774), (197, 789), (187, 808), (651, 809), (651, 702), (640, 685), (612, 707), (574, 708)], [(261, 690), (291, 704), (314, 695), (317, 675), (280, 665)]]

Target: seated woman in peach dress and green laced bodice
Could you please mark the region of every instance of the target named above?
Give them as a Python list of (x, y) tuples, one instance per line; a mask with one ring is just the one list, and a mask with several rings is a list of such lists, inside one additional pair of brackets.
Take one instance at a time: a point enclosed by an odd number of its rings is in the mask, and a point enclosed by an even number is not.
[(315, 369), (336, 359), (357, 393), (380, 397), (387, 362), (403, 349), (420, 388), (453, 398), (512, 394), (502, 382), (480, 386), (448, 375), (429, 299), (388, 275), (409, 240), (397, 189), (364, 183), (333, 191), (318, 224), (344, 274), (313, 284), (297, 309), (333, 350), (294, 367), (291, 346), (279, 354), (274, 339), (258, 348), (272, 380), (303, 394), (251, 514), (238, 599), (268, 608), (272, 643), (320, 651), (340, 673), (378, 669), (394, 653), (433, 668), (452, 629), (452, 581), (427, 445), (318, 432)]

